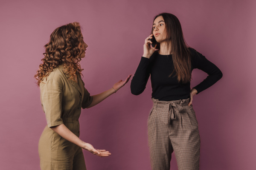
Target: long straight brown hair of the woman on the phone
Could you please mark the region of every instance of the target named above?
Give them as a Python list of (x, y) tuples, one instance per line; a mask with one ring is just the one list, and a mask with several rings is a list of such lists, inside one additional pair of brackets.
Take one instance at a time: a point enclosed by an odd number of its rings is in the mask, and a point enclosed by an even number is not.
[[(162, 16), (165, 22), (166, 28), (166, 39), (172, 42), (172, 60), (174, 64), (174, 70), (169, 75), (173, 74), (177, 76), (178, 82), (188, 83), (191, 80), (191, 54), (188, 49), (188, 45), (183, 37), (180, 21), (178, 18), (169, 13), (161, 13), (154, 17), (154, 20)], [(154, 21), (153, 21), (154, 23)], [(151, 34), (153, 34), (153, 28)], [(169, 49), (169, 43), (167, 43)], [(157, 42), (157, 49), (160, 49), (160, 43)]]

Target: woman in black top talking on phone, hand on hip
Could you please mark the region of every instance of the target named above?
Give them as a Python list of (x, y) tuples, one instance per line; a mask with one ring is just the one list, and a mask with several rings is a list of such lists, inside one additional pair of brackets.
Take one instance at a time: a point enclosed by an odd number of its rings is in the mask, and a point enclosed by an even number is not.
[[(152, 45), (154, 41), (156, 45)], [(208, 76), (190, 89), (194, 68)], [(221, 79), (222, 73), (186, 44), (180, 22), (173, 14), (162, 13), (154, 18), (143, 57), (131, 81), (131, 93), (141, 94), (149, 76), (153, 100), (148, 116), (152, 170), (169, 170), (173, 151), (179, 170), (198, 170), (200, 136), (192, 99)]]

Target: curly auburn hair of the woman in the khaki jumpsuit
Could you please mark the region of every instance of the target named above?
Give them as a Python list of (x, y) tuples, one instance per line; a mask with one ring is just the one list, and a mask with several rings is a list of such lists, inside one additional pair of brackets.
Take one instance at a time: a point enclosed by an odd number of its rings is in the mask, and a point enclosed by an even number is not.
[(47, 79), (53, 68), (62, 64), (67, 71), (66, 74), (70, 75), (68, 79), (75, 81), (76, 71), (82, 75), (80, 55), (83, 52), (84, 40), (81, 37), (81, 27), (77, 22), (58, 27), (52, 32), (50, 41), (44, 45), (44, 58), (41, 59), (43, 64), (39, 65), (37, 74), (34, 76), (38, 86), (44, 77)]

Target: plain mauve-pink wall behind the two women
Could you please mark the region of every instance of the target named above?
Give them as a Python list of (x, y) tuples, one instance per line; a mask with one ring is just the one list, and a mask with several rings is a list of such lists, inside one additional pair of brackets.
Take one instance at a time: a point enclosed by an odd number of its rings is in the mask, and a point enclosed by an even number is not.
[[(175, 14), (186, 42), (224, 76), (196, 95), (201, 170), (255, 170), (255, 40), (253, 0), (10, 0), (0, 5), (0, 169), (37, 170), (38, 140), (46, 125), (34, 74), (58, 26), (78, 21), (89, 47), (81, 61), (91, 94), (134, 74), (154, 16)], [(193, 71), (192, 85), (207, 74)], [(130, 82), (85, 109), (81, 139), (112, 156), (84, 151), (88, 170), (150, 170), (146, 121), (151, 85), (140, 96)], [(177, 170), (175, 157), (172, 170)]]

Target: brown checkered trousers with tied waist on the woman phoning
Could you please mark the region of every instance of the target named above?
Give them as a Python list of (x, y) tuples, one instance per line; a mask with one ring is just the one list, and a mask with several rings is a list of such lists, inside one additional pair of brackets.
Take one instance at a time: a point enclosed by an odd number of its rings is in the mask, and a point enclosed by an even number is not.
[(189, 99), (159, 101), (148, 116), (148, 146), (152, 170), (170, 170), (175, 152), (179, 170), (199, 170), (200, 136)]

